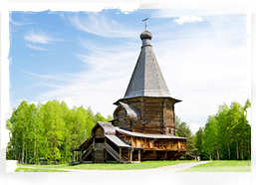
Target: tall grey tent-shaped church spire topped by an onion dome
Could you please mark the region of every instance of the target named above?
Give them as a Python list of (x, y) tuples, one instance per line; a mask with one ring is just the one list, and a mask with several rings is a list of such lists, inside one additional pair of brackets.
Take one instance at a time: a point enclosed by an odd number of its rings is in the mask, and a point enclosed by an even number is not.
[(150, 45), (152, 34), (144, 30), (140, 34), (140, 39), (142, 41), (141, 51), (130, 78), (125, 98), (135, 96), (170, 97)]

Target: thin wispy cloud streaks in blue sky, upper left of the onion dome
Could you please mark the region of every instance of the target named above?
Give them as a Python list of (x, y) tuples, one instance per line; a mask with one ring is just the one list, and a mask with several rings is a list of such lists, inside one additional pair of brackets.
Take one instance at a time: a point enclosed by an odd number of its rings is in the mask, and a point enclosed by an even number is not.
[(110, 38), (129, 38), (136, 36), (133, 30), (122, 25), (122, 23), (110, 20), (101, 14), (89, 13), (87, 17), (77, 15), (69, 19), (71, 24), (78, 30), (91, 34)]

